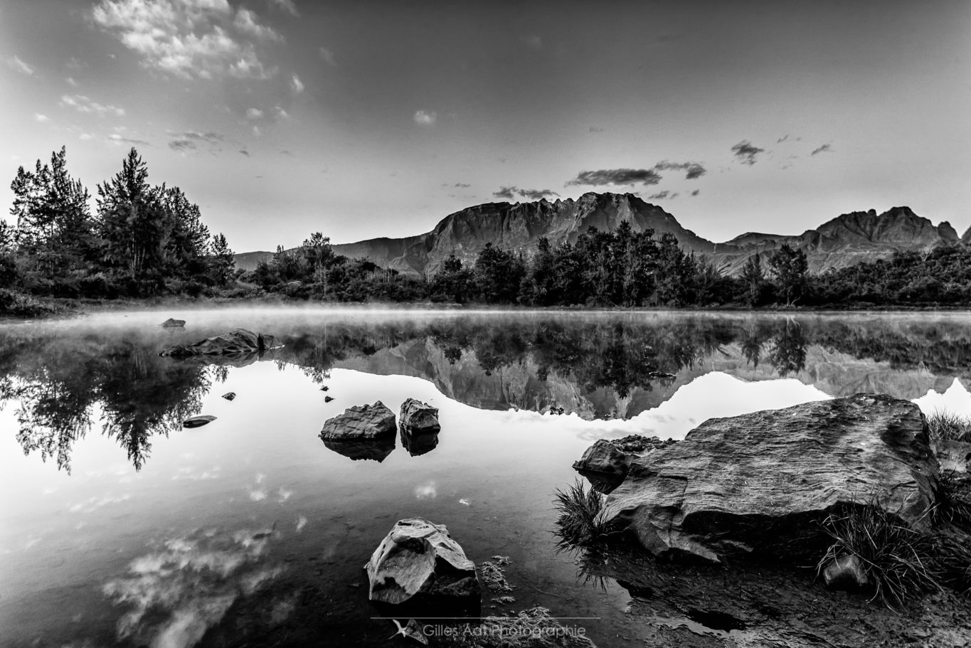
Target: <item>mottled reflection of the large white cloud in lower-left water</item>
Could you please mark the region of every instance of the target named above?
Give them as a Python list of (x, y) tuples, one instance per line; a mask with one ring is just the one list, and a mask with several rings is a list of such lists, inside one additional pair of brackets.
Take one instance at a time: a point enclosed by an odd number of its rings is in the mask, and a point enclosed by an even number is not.
[(102, 588), (129, 608), (118, 639), (153, 648), (187, 648), (218, 624), (237, 597), (276, 578), (282, 567), (259, 564), (272, 533), (215, 529), (165, 540), (128, 564), (129, 575)]

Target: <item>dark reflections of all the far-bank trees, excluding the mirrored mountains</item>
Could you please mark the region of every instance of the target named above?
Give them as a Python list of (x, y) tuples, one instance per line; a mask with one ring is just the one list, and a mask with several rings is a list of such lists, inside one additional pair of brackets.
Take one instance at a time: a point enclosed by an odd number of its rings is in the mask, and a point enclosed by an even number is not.
[[(780, 376), (803, 371), (813, 345), (854, 358), (885, 361), (894, 369), (927, 368), (962, 375), (971, 368), (971, 333), (959, 321), (837, 320), (819, 317), (743, 316), (436, 318), (405, 322), (281, 324), (272, 331), (285, 347), (279, 366), (295, 364), (322, 384), (335, 363), (419, 342), (450, 365), (483, 374), (528, 366), (540, 382), (555, 375), (585, 391), (613, 390), (620, 398), (652, 390), (667, 374), (696, 366), (738, 344), (753, 367), (770, 365)], [(74, 443), (95, 425), (117, 440), (140, 468), (151, 437), (179, 428), (198, 413), (225, 364), (159, 358), (158, 340), (117, 333), (41, 334), (18, 328), (0, 333), (0, 404), (16, 401), (17, 441), (27, 454), (70, 468)], [(413, 351), (417, 351), (413, 346)], [(423, 349), (419, 375), (434, 370)], [(254, 360), (248, 358), (242, 362)]]

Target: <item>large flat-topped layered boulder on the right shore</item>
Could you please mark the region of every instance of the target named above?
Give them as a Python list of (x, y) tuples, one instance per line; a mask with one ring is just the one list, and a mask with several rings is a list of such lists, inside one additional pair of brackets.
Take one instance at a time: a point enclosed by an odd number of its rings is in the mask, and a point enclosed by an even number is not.
[(817, 550), (820, 519), (853, 502), (925, 529), (936, 483), (918, 406), (857, 393), (706, 421), (634, 460), (605, 514), (655, 555), (792, 558)]

